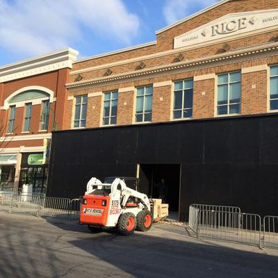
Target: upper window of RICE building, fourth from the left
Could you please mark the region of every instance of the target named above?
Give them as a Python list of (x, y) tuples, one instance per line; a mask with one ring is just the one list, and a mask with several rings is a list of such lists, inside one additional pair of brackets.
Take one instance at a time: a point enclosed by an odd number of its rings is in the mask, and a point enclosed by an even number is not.
[(174, 83), (173, 119), (190, 118), (193, 111), (193, 79)]

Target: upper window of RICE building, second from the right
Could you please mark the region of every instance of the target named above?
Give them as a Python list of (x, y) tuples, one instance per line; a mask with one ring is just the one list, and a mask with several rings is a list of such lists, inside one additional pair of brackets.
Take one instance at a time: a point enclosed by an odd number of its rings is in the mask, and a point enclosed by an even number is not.
[(241, 73), (230, 72), (218, 75), (217, 114), (240, 113)]

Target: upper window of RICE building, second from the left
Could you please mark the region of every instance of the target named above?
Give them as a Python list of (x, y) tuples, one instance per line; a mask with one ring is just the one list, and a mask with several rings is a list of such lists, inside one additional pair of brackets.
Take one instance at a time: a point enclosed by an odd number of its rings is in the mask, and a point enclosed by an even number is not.
[(104, 93), (104, 115), (102, 124), (116, 124), (117, 122), (117, 91)]

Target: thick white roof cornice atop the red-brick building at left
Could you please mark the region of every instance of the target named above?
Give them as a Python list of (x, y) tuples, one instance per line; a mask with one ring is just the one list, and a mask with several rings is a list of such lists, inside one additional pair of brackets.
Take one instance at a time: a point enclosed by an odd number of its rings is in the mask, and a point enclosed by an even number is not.
[(76, 60), (78, 51), (67, 48), (37, 58), (23, 60), (0, 67), (0, 83), (22, 79), (24, 77), (52, 72), (66, 67), (72, 68), (72, 62)]

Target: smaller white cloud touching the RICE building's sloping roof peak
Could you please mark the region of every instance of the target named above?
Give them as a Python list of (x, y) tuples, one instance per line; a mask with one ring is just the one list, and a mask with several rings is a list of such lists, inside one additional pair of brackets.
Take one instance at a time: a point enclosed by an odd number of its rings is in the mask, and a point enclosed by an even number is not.
[(167, 24), (179, 21), (183, 17), (202, 10), (219, 0), (166, 0), (163, 15)]

